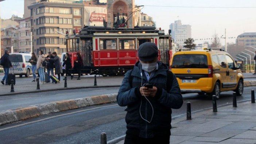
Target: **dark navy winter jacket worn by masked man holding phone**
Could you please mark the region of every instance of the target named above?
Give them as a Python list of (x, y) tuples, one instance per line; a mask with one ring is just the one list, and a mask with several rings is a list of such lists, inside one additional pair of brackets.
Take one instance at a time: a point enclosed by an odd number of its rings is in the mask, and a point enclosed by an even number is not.
[[(125, 109), (125, 111), (127, 111), (125, 117), (127, 132), (144, 138), (163, 134), (170, 135), (171, 108), (179, 109), (183, 104), (181, 90), (175, 75), (173, 74), (172, 79), (168, 80), (172, 81), (172, 87), (169, 92), (167, 92), (166, 81), (168, 67), (162, 62), (158, 62), (158, 65), (158, 70), (156, 70), (155, 74), (147, 81), (144, 71), (140, 69), (139, 62), (137, 62), (134, 69), (127, 71), (125, 74), (117, 94), (117, 103), (120, 106), (127, 106), (127, 109)], [(141, 76), (141, 73), (143, 76)], [(129, 75), (132, 76), (132, 87), (129, 84)], [(141, 79), (143, 80), (142, 85), (144, 83), (152, 83), (153, 86), (156, 86), (158, 89), (155, 97), (147, 97), (154, 108), (154, 116), (151, 123), (141, 118), (142, 116), (150, 121), (153, 113), (150, 103), (140, 94)]]

